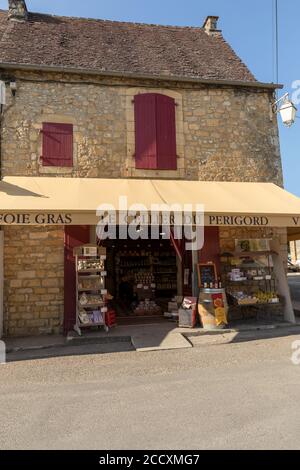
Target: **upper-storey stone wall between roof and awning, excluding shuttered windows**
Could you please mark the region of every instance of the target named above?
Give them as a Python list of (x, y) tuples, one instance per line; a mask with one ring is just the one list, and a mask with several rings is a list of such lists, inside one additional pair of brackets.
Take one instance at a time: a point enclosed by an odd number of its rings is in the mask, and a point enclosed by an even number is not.
[[(3, 118), (7, 175), (152, 177), (272, 181), (282, 184), (272, 91), (241, 87), (16, 72), (16, 97)], [(134, 168), (132, 97), (157, 91), (176, 99), (178, 171)], [(8, 93), (9, 95), (9, 93)], [(74, 167), (43, 167), (42, 123), (74, 125)]]

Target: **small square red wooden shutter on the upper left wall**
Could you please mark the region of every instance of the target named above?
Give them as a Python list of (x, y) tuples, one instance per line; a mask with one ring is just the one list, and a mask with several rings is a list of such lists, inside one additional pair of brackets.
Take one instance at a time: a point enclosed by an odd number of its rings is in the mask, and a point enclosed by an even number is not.
[(73, 166), (73, 125), (43, 123), (44, 166)]

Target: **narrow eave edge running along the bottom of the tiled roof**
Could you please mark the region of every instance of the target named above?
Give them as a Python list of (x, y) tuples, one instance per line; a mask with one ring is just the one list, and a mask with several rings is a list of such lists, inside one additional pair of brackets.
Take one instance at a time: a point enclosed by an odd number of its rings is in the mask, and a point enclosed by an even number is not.
[(207, 85), (220, 85), (220, 86), (237, 86), (237, 87), (248, 87), (248, 88), (264, 88), (264, 89), (282, 89), (284, 85), (275, 83), (263, 83), (263, 82), (244, 82), (236, 80), (213, 80), (213, 79), (201, 79), (197, 77), (182, 77), (175, 75), (147, 75), (129, 72), (113, 72), (113, 71), (97, 71), (94, 69), (87, 68), (72, 68), (72, 67), (56, 67), (49, 65), (38, 65), (38, 64), (14, 64), (14, 63), (0, 63), (0, 70), (30, 70), (30, 71), (44, 71), (44, 72), (56, 72), (56, 73), (70, 73), (70, 74), (84, 74), (84, 75), (98, 75), (104, 77), (119, 77), (119, 78), (141, 78), (148, 80), (166, 80), (172, 82), (185, 82), (185, 83), (199, 83)]

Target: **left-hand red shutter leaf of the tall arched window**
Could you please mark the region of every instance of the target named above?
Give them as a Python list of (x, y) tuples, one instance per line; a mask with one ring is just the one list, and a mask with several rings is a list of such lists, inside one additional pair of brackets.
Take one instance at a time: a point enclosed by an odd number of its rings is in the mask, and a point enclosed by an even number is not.
[(134, 98), (135, 166), (141, 170), (157, 168), (156, 95), (145, 93)]

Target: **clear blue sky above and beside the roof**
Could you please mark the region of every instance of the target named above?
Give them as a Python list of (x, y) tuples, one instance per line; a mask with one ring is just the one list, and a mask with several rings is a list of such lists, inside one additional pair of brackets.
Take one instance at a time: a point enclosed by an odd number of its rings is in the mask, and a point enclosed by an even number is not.
[[(274, 67), (275, 0), (27, 0), (30, 11), (143, 23), (202, 26), (207, 15), (220, 16), (225, 39), (262, 82), (276, 82)], [(7, 0), (0, 8), (7, 9)], [(295, 93), (299, 81), (299, 0), (278, 0), (279, 83)], [(80, 40), (80, 38), (78, 38)], [(296, 97), (296, 93), (294, 95)], [(300, 116), (300, 92), (298, 93)], [(300, 196), (300, 118), (291, 128), (280, 124), (284, 182)]]

